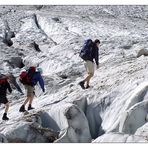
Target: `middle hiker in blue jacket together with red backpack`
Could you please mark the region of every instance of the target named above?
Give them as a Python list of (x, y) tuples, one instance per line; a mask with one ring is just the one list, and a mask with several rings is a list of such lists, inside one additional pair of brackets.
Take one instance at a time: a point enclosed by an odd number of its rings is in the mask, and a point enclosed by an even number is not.
[(41, 68), (30, 67), (27, 72), (22, 72), (20, 75), (20, 81), (24, 84), (25, 89), (27, 91), (27, 99), (24, 101), (23, 105), (20, 107), (19, 112), (25, 112), (25, 105), (29, 102), (28, 110), (34, 109), (32, 107), (32, 101), (35, 95), (35, 85), (39, 82), (40, 87), (43, 92), (45, 92), (44, 88), (44, 80), (41, 76), (42, 74)]

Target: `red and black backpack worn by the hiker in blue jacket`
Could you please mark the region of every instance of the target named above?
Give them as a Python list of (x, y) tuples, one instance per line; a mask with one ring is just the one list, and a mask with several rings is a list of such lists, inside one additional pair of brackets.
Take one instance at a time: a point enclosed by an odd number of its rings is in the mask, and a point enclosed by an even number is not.
[(28, 71), (23, 71), (19, 77), (20, 82), (24, 85), (33, 86), (33, 76), (35, 74), (35, 71), (35, 67), (30, 67)]

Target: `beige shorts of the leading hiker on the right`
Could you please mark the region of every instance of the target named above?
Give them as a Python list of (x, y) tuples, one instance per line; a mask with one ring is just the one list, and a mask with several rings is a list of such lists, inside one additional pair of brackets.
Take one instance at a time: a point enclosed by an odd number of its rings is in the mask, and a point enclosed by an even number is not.
[(95, 72), (95, 65), (92, 61), (85, 61), (85, 64), (84, 64), (85, 68), (86, 68), (86, 71), (90, 74), (93, 74), (94, 75), (94, 72)]

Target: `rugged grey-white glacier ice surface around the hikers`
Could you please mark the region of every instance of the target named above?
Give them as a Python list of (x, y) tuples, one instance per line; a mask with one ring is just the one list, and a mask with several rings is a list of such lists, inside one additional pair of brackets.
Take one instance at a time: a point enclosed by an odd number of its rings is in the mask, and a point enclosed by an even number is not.
[[(8, 142), (147, 142), (148, 6), (0, 6), (0, 13), (0, 72), (18, 81), (24, 68), (12, 59), (21, 57), (26, 67), (43, 68), (46, 88), (36, 86), (30, 122), (18, 111), (25, 96), (8, 94), (10, 120), (0, 121)], [(16, 34), (11, 47), (2, 42), (5, 19)], [(82, 90), (79, 51), (87, 38), (101, 41), (100, 68)]]

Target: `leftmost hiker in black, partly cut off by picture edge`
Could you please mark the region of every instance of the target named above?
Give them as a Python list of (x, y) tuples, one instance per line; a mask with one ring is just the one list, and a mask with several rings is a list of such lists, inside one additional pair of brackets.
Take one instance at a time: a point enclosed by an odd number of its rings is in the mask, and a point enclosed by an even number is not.
[(3, 114), (2, 120), (9, 120), (9, 118), (7, 117), (7, 112), (9, 110), (9, 102), (6, 97), (7, 89), (10, 93), (12, 92), (10, 84), (7, 81), (7, 77), (3, 74), (0, 74), (0, 104), (2, 103), (5, 105), (5, 112)]

